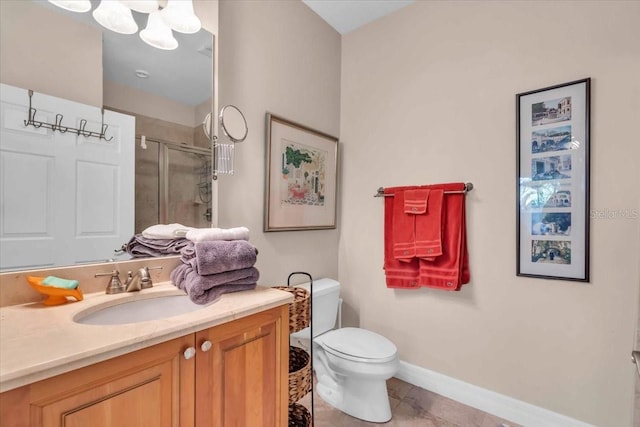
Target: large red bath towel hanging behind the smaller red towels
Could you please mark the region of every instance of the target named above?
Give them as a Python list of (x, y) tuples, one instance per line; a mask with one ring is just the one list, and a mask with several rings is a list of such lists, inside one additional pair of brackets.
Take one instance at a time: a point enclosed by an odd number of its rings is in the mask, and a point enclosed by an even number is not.
[[(464, 184), (438, 184), (427, 186), (394, 187), (385, 188), (385, 263), (387, 287), (389, 288), (418, 288), (420, 286), (434, 287), (446, 290), (459, 290), (469, 283), (469, 256), (466, 241), (465, 224), (465, 195), (444, 194), (442, 201), (442, 255), (433, 261), (412, 258), (409, 261), (399, 261), (394, 257), (394, 218), (398, 211), (395, 197), (406, 190), (430, 189), (433, 190), (461, 191)], [(404, 196), (402, 205), (404, 207)], [(403, 212), (404, 213), (404, 212)]]

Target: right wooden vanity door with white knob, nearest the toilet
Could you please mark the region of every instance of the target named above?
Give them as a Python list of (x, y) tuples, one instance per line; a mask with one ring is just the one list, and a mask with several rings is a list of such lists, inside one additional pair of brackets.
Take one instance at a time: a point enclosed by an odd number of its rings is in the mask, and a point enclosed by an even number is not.
[(285, 305), (196, 334), (196, 426), (287, 424), (288, 316)]

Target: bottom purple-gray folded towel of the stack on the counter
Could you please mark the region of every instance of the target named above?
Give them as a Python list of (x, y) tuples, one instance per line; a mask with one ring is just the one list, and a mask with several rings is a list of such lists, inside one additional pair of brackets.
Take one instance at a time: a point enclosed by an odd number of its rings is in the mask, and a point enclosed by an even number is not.
[(188, 264), (171, 272), (171, 281), (196, 304), (208, 304), (229, 292), (255, 289), (260, 273), (255, 267), (201, 276)]

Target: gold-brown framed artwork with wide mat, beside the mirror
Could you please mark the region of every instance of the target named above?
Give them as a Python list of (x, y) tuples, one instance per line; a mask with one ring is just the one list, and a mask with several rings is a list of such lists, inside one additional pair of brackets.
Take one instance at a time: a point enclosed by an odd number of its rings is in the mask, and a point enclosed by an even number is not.
[(338, 138), (267, 113), (264, 231), (336, 228)]

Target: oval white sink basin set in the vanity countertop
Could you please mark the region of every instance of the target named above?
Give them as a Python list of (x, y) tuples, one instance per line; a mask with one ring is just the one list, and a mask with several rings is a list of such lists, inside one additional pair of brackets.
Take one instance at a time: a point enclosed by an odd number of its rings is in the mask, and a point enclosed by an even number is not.
[(195, 304), (187, 295), (158, 295), (127, 299), (103, 308), (92, 307), (78, 313), (73, 321), (85, 325), (120, 325), (166, 319), (204, 307), (207, 306)]

